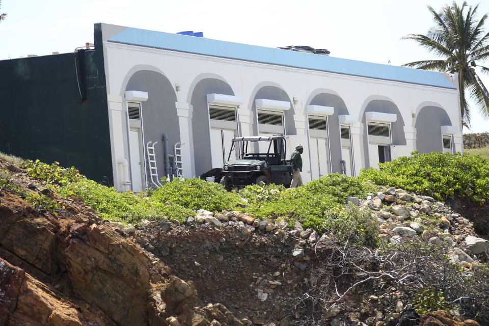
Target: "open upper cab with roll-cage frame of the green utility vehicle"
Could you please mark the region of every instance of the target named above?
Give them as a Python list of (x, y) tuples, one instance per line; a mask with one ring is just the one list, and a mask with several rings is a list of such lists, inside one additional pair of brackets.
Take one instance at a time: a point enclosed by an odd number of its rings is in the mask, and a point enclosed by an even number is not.
[(259, 159), (273, 160), (280, 164), (285, 160), (285, 140), (284, 139), (257, 139), (257, 140), (233, 140), (228, 160), (234, 150), (239, 153), (239, 159)]

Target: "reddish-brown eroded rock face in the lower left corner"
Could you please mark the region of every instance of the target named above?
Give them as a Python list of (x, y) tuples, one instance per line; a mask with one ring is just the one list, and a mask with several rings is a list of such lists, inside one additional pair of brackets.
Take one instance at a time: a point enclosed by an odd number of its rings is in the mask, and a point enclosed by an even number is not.
[(0, 325), (241, 325), (224, 306), (197, 310), (192, 282), (84, 204), (55, 197), (67, 207), (55, 216), (0, 196)]

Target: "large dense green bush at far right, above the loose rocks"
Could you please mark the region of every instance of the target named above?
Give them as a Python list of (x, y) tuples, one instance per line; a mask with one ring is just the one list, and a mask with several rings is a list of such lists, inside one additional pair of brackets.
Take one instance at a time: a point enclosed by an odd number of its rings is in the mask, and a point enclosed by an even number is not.
[(362, 170), (360, 177), (438, 199), (460, 195), (484, 202), (489, 198), (489, 161), (478, 155), (413, 152), (379, 167)]

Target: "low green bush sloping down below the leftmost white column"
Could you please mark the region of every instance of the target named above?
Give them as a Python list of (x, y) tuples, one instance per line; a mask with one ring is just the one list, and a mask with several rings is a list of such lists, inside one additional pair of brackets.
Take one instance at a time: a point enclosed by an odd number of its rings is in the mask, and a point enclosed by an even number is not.
[(58, 194), (64, 197), (80, 196), (101, 218), (124, 224), (138, 224), (142, 219), (162, 217), (183, 222), (188, 216), (195, 215), (194, 211), (178, 204), (165, 205), (132, 193), (119, 193), (113, 187), (88, 179), (61, 186)]

